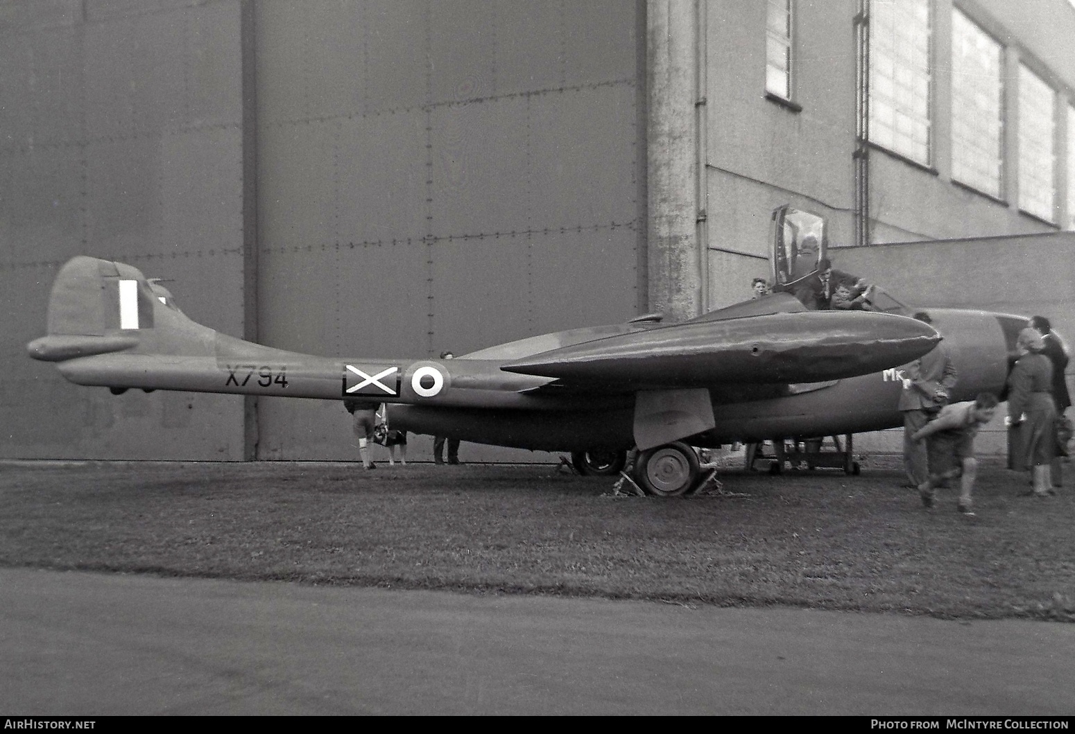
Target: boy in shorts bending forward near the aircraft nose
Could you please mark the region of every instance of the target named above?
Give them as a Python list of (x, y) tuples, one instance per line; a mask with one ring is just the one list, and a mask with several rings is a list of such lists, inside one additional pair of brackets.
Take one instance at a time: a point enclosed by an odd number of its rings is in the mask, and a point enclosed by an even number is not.
[(936, 418), (926, 423), (912, 436), (927, 442), (930, 474), (918, 486), (922, 505), (933, 507), (934, 491), (948, 479), (959, 477), (957, 507), (964, 515), (974, 515), (972, 492), (978, 475), (978, 460), (974, 458), (974, 437), (978, 429), (993, 419), (997, 395), (980, 392), (974, 402), (945, 405)]

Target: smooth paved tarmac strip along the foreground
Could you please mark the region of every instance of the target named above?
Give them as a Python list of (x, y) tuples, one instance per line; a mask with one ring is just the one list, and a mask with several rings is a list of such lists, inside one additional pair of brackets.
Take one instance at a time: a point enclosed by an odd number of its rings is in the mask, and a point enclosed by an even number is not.
[(1075, 624), (0, 569), (0, 715), (1071, 715)]

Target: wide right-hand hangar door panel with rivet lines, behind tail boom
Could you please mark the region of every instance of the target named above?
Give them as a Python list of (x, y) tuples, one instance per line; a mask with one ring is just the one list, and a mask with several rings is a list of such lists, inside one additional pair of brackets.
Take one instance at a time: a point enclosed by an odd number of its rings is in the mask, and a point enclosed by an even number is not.
[[(260, 341), (420, 358), (636, 315), (642, 8), (258, 3)], [(258, 458), (356, 454), (339, 403), (257, 411)]]

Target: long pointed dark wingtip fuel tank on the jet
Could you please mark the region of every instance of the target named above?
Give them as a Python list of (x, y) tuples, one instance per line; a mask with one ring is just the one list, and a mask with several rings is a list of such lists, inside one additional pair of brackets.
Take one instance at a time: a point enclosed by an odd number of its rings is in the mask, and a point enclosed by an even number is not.
[(688, 322), (534, 355), (508, 372), (637, 386), (806, 383), (905, 364), (941, 340), (927, 323), (868, 312), (806, 312)]

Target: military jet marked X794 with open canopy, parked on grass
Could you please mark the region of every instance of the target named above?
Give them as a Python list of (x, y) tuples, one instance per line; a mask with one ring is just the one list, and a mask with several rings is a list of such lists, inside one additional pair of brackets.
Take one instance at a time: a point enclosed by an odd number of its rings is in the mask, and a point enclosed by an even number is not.
[[(825, 220), (774, 213), (773, 283), (816, 274)], [(818, 247), (818, 244), (820, 246)], [(816, 247), (815, 249), (812, 249)], [(360, 400), (415, 433), (571, 451), (585, 473), (634, 474), (657, 495), (696, 489), (691, 448), (902, 424), (895, 368), (941, 335), (894, 300), (875, 312), (809, 311), (789, 292), (678, 323), (658, 315), (573, 329), (453, 360), (317, 357), (196, 323), (159, 283), (80, 256), (53, 285), (48, 333), (28, 345), (72, 383), (126, 389)], [(960, 371), (957, 400), (999, 391), (1021, 317), (932, 312)], [(1021, 319), (1021, 320), (1019, 320)]]

